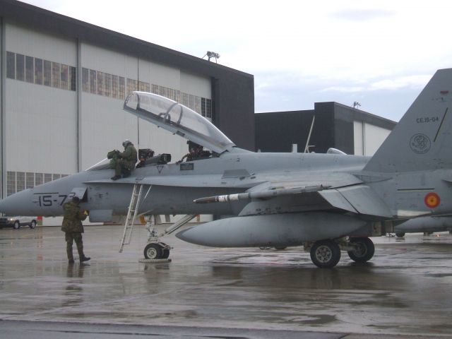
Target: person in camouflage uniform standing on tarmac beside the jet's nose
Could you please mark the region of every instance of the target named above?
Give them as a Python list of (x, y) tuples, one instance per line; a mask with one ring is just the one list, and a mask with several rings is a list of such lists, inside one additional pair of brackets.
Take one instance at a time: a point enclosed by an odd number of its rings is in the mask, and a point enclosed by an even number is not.
[(80, 262), (83, 263), (83, 261), (90, 260), (88, 256), (83, 254), (82, 233), (84, 230), (82, 220), (86, 219), (86, 214), (81, 211), (80, 206), (78, 206), (79, 203), (80, 199), (77, 196), (74, 196), (72, 201), (63, 205), (64, 218), (61, 231), (66, 234), (66, 252), (68, 254), (69, 263), (74, 263), (72, 254), (73, 242), (76, 242)]

